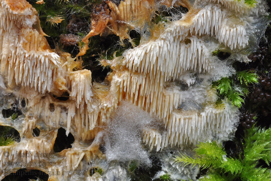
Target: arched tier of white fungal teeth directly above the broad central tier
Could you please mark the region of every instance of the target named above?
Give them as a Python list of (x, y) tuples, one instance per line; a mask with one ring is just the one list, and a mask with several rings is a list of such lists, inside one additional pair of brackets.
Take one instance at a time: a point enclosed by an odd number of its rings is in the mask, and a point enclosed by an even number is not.
[[(198, 13), (191, 19), (191, 13), (187, 13), (181, 20), (173, 22), (172, 27), (168, 29), (170, 32), (170, 36), (174, 36), (173, 38), (178, 38), (174, 35), (174, 31), (178, 29), (179, 36), (182, 36), (182, 40), (186, 38), (188, 33), (192, 35), (210, 35), (216, 37), (219, 41), (224, 43), (226, 46), (233, 48), (243, 48), (248, 45), (248, 37), (246, 36), (246, 31), (244, 26), (242, 26), (242, 22), (239, 20), (232, 21), (229, 18), (227, 11), (221, 10), (217, 6), (207, 5), (205, 8), (198, 11)], [(189, 23), (187, 23), (187, 18), (189, 19)], [(236, 33), (238, 27), (241, 28), (241, 33)], [(232, 31), (232, 37), (230, 39), (229, 32)], [(237, 34), (238, 37), (242, 40), (238, 41), (238, 44), (234, 45), (233, 34)], [(225, 38), (226, 36), (226, 38)], [(160, 39), (164, 38), (168, 40), (167, 33), (161, 35)], [(231, 40), (231, 41), (229, 41)]]

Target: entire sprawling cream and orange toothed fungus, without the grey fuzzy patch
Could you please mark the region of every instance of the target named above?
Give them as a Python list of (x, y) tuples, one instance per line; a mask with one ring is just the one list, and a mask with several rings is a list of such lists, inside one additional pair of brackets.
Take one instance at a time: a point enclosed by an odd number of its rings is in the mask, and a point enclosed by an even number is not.
[[(70, 54), (49, 47), (37, 12), (28, 2), (0, 0), (0, 3), (0, 73), (6, 91), (27, 100), (21, 122), (1, 118), (0, 124), (13, 126), (22, 140), (1, 147), (0, 174), (7, 168), (6, 161), (48, 161), (49, 158), (5, 157), (4, 153), (49, 153), (59, 127), (66, 128), (66, 135), (70, 132), (74, 135), (73, 147), (55, 154), (51, 161), (57, 162), (56, 166), (38, 168), (87, 171), (84, 163), (103, 157), (98, 149), (99, 140), (91, 141), (106, 127), (122, 100), (163, 122), (161, 129), (150, 126), (142, 131), (142, 141), (150, 150), (183, 147), (213, 137), (223, 139), (233, 132), (237, 108), (227, 100), (217, 106), (215, 90), (210, 88), (211, 80), (231, 72), (211, 52), (217, 47), (245, 52), (253, 32), (257, 36), (257, 32), (262, 32), (263, 27), (257, 22), (266, 15), (264, 2), (251, 8), (234, 0), (126, 0), (118, 6), (108, 1), (108, 7), (101, 5), (96, 9), (92, 30), (83, 39), (86, 44), (78, 56), (86, 52), (89, 37), (100, 33), (114, 33), (120, 40), (130, 39), (132, 29), (149, 34), (144, 34), (139, 46), (123, 56), (102, 61), (113, 70), (103, 83), (92, 83), (91, 71), (82, 69)], [(189, 11), (179, 20), (151, 24), (151, 17), (160, 5), (182, 5)], [(186, 90), (182, 88), (184, 83), (188, 84)], [(54, 97), (65, 93), (69, 94), (66, 101)], [(32, 137), (35, 127), (41, 129), (39, 137)], [(50, 180), (62, 176), (52, 175)], [(81, 177), (89, 179), (87, 174), (78, 176)], [(96, 180), (101, 178), (97, 176)]]

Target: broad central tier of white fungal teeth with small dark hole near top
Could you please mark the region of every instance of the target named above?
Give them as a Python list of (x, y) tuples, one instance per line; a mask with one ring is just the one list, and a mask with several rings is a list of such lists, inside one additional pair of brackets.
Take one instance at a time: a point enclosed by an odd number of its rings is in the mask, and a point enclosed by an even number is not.
[[(167, 81), (171, 78), (176, 79), (182, 73), (188, 70), (194, 70), (201, 72), (202, 68), (198, 67), (201, 64), (198, 57), (203, 57), (203, 61), (206, 63), (204, 71), (209, 71), (213, 58), (209, 56), (209, 52), (206, 51), (202, 40), (196, 37), (187, 37), (184, 41), (178, 41), (179, 36), (174, 37), (176, 41), (169, 42), (169, 40), (157, 40), (143, 44), (142, 46), (130, 49), (126, 54), (126, 67), (134, 72), (148, 74), (160, 81)], [(171, 48), (163, 46), (167, 43), (171, 44)], [(156, 48), (157, 47), (157, 48)], [(161, 48), (163, 47), (163, 49)], [(174, 47), (174, 50), (173, 50)], [(175, 48), (178, 49), (175, 49)], [(158, 50), (158, 52), (155, 52)], [(141, 54), (139, 55), (138, 52)], [(169, 56), (170, 52), (176, 52), (179, 55)], [(145, 59), (143, 59), (143, 57)], [(175, 65), (175, 66), (173, 66)], [(154, 71), (149, 71), (148, 67), (157, 67)]]

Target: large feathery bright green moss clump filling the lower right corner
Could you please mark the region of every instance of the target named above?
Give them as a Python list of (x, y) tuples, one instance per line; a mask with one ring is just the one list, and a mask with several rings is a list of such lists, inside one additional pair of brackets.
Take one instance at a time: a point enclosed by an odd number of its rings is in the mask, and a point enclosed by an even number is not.
[[(200, 181), (267, 181), (271, 180), (271, 169), (258, 166), (260, 159), (266, 164), (271, 161), (271, 128), (260, 129), (253, 127), (248, 129), (244, 138), (244, 157), (227, 157), (221, 144), (216, 142), (201, 142), (194, 149), (195, 157), (184, 154), (175, 157), (176, 163), (186, 166), (198, 165), (209, 168), (207, 176)], [(241, 153), (240, 153), (241, 154)]]

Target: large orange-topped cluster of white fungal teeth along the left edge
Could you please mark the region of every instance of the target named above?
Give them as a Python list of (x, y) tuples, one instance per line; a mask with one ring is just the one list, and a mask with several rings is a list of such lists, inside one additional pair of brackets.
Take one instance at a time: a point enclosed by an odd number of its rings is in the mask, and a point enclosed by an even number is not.
[[(2, 11), (8, 10), (2, 7)], [(16, 15), (25, 16), (24, 14)], [(8, 85), (13, 85), (15, 81), (17, 85), (35, 87), (42, 93), (45, 93), (45, 90), (50, 91), (50, 86), (47, 84), (50, 85), (53, 80), (52, 74), (48, 74), (52, 71), (48, 71), (48, 69), (60, 66), (59, 56), (48, 49), (45, 37), (32, 27), (22, 27), (21, 29), (11, 27), (9, 31), (5, 31), (5, 25), (11, 25), (10, 21), (15, 21), (14, 24), (22, 22), (17, 22), (16, 19), (9, 19), (6, 16), (2, 16), (0, 21), (0, 24), (4, 26), (0, 36), (2, 36), (2, 44), (5, 45), (0, 48), (0, 52), (2, 52), (0, 65), (1, 73), (9, 75)], [(35, 80), (34, 84), (33, 80)]]

